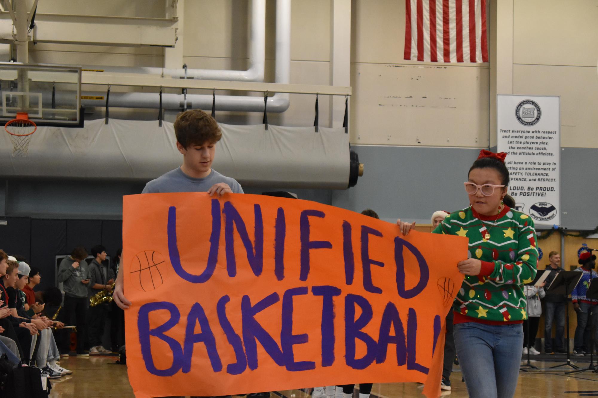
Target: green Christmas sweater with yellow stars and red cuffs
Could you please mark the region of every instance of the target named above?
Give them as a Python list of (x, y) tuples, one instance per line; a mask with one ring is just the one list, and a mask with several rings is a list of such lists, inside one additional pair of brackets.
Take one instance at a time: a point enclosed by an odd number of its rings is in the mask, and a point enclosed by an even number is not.
[[(465, 236), (468, 258), (481, 261), (480, 274), (466, 275), (453, 303), (454, 323), (490, 325), (527, 319), (524, 283), (536, 276), (538, 249), (532, 218), (508, 206), (483, 216), (469, 206), (448, 215), (434, 233)], [(486, 234), (490, 239), (484, 239)]]

